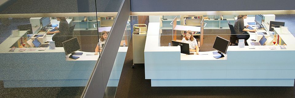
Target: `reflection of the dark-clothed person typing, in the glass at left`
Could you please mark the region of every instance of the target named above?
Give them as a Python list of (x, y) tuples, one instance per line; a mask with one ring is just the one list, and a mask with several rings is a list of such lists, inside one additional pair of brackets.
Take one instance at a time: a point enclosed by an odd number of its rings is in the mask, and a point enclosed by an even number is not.
[(57, 21), (60, 21), (59, 28), (55, 27), (55, 29), (57, 29), (56, 31), (48, 31), (47, 34), (59, 33), (59, 36), (67, 36), (69, 32), (69, 23), (66, 21), (65, 17), (56, 17), (56, 19)]

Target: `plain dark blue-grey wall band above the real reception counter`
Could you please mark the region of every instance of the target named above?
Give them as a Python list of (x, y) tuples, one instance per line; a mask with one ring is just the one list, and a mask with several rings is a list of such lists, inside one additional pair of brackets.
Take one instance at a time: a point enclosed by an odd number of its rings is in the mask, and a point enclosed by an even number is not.
[(294, 0), (131, 0), (131, 11), (294, 10), (294, 4)]

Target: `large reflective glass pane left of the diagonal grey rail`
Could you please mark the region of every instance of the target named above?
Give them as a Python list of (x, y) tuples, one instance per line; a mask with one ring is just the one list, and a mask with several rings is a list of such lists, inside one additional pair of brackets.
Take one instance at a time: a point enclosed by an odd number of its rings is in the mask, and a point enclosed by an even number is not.
[[(106, 5), (94, 2), (88, 1), (88, 6), (68, 2), (74, 9), (64, 10), (59, 6), (61, 10), (53, 12), (34, 9), (33, 5), (42, 3), (34, 2), (27, 8), (30, 10), (18, 12), (21, 9), (15, 6), (26, 2), (15, 1), (1, 10), (0, 90), (4, 92), (0, 93), (3, 97), (83, 95), (104, 47), (99, 40), (107, 40), (103, 32), (110, 32), (122, 0), (113, 2), (108, 10), (102, 10)], [(96, 10), (98, 6), (100, 9)], [(125, 46), (129, 39), (124, 37)]]

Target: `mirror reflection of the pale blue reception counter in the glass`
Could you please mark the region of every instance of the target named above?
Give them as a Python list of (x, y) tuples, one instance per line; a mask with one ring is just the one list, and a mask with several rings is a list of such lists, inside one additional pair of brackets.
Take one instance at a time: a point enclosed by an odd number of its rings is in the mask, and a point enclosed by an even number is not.
[[(26, 31), (20, 31), (22, 33), (26, 35)], [(5, 88), (85, 86), (99, 58), (99, 55), (93, 55), (94, 52), (77, 51), (83, 54), (76, 55), (80, 58), (74, 60), (65, 55), (63, 47), (10, 51), (19, 39), (21, 36), (10, 36), (0, 44), (0, 81), (4, 82)], [(109, 86), (118, 84), (127, 48), (119, 47)]]

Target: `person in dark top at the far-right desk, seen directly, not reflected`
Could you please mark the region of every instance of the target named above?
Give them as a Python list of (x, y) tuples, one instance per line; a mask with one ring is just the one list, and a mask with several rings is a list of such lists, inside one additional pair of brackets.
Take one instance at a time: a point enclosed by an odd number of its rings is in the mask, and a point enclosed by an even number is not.
[(247, 31), (256, 32), (255, 29), (253, 30), (248, 29), (249, 25), (244, 26), (244, 19), (246, 19), (247, 17), (248, 15), (238, 15), (238, 19), (234, 23), (234, 31), (237, 34), (237, 38), (244, 39), (245, 43), (246, 43), (246, 40), (248, 40), (250, 37)]

